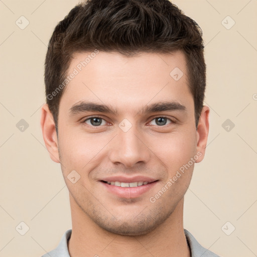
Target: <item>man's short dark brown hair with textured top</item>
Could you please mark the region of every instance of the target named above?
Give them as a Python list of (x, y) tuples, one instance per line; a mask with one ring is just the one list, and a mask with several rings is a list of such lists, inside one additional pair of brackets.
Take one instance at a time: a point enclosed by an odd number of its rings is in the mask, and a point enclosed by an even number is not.
[(168, 0), (88, 0), (55, 27), (45, 60), (46, 101), (56, 131), (63, 81), (75, 52), (184, 52), (198, 124), (206, 86), (202, 30)]

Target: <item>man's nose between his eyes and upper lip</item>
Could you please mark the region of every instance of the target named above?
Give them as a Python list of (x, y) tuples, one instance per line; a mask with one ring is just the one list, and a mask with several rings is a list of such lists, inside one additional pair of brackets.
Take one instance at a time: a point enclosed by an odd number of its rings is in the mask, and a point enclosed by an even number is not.
[(108, 153), (113, 164), (123, 164), (125, 167), (146, 164), (151, 158), (151, 150), (134, 126), (127, 132), (118, 128), (117, 136), (109, 145)]

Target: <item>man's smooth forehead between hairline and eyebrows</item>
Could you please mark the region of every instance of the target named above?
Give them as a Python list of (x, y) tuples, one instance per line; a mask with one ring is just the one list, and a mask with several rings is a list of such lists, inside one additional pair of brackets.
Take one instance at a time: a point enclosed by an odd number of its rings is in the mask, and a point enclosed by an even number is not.
[(67, 76), (70, 81), (61, 103), (69, 106), (79, 101), (107, 102), (128, 111), (132, 105), (150, 101), (186, 103), (193, 99), (181, 51), (129, 57), (117, 52), (76, 53)]

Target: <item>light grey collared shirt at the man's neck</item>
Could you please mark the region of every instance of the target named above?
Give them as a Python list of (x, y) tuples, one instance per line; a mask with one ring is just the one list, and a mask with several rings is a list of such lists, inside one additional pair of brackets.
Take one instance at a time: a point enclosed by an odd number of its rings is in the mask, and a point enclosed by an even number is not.
[[(41, 257), (70, 257), (68, 251), (68, 240), (70, 239), (71, 231), (71, 229), (67, 230), (62, 236), (59, 245), (54, 250), (51, 250)], [(186, 235), (187, 243), (190, 247), (191, 257), (220, 257), (217, 254), (202, 247), (189, 231), (184, 229), (184, 232)]]

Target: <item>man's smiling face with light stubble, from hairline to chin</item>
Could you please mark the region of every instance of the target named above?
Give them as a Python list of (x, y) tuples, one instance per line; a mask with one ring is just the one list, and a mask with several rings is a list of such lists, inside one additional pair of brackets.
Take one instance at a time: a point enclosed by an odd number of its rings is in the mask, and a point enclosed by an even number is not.
[(78, 74), (59, 106), (59, 161), (71, 205), (108, 231), (144, 234), (183, 202), (204, 155), (185, 56), (99, 52), (78, 66), (88, 54), (74, 55), (67, 74)]

